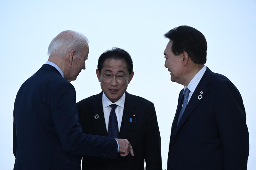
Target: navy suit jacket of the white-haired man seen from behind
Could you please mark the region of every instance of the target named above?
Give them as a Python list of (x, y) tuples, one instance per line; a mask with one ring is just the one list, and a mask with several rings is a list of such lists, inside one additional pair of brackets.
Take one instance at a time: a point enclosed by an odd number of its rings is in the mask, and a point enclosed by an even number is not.
[(15, 170), (80, 170), (81, 156), (117, 157), (114, 138), (86, 135), (76, 91), (44, 64), (17, 93), (13, 110)]

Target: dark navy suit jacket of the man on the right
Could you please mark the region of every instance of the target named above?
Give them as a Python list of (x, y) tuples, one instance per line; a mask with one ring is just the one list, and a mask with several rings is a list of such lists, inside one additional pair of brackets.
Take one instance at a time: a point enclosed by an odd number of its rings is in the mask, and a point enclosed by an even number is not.
[(235, 85), (207, 67), (177, 126), (182, 103), (183, 90), (172, 123), (168, 170), (246, 170), (249, 134)]

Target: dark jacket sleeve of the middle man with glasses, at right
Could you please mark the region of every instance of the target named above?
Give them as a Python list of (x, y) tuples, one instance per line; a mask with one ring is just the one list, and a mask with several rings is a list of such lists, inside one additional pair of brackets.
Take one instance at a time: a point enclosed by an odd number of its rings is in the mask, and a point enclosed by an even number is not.
[(146, 170), (162, 170), (161, 137), (154, 104), (150, 106), (145, 144)]

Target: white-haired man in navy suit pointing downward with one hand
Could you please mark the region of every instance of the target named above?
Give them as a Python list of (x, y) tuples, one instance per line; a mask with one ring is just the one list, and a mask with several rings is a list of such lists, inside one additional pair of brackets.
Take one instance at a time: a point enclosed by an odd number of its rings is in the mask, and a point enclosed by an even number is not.
[(133, 150), (126, 139), (82, 133), (76, 91), (69, 83), (85, 69), (86, 37), (63, 31), (49, 45), (48, 61), (20, 87), (13, 110), (15, 170), (80, 170), (80, 155), (116, 158)]

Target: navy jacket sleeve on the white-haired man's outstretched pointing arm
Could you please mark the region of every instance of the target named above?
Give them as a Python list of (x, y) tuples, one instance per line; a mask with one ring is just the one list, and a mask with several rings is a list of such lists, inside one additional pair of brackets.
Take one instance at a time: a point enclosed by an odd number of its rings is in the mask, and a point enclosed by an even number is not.
[(82, 133), (77, 122), (76, 91), (72, 84), (58, 85), (52, 92), (50, 103), (54, 127), (64, 151), (103, 158), (117, 157), (115, 138)]

